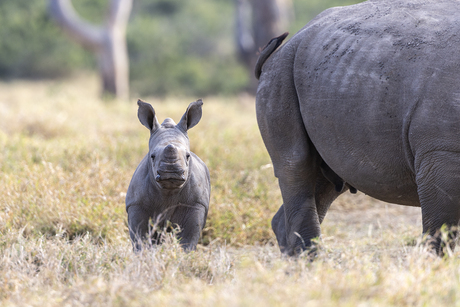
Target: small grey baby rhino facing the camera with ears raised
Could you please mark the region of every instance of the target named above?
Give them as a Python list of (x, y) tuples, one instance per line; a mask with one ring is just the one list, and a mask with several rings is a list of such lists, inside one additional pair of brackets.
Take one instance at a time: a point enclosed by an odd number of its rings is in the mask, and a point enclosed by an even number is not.
[(137, 115), (150, 130), (150, 140), (149, 152), (126, 194), (134, 250), (140, 250), (145, 239), (161, 243), (160, 232), (170, 226), (179, 226), (180, 244), (194, 250), (206, 223), (211, 183), (208, 168), (190, 151), (187, 130), (200, 121), (203, 102), (192, 102), (177, 125), (170, 118), (160, 125), (150, 104), (141, 100), (137, 104)]

